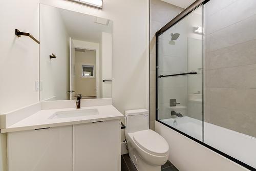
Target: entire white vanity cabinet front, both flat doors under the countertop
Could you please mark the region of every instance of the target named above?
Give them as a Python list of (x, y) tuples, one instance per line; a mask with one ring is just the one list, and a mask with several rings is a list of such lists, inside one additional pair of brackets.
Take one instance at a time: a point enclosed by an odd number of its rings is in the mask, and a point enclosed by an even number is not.
[(119, 119), (8, 133), (8, 171), (117, 171)]

